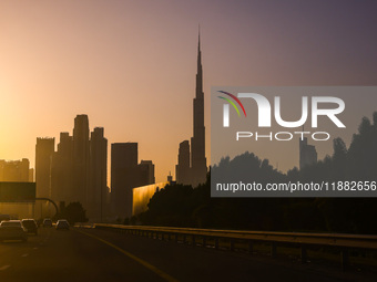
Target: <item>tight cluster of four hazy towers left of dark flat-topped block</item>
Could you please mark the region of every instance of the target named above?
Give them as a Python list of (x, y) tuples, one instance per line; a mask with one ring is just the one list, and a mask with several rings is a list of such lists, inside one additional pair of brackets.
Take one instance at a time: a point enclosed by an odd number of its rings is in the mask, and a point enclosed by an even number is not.
[(86, 115), (74, 118), (73, 135), (60, 134), (54, 150), (54, 138), (37, 138), (37, 197), (65, 203), (79, 201), (86, 216), (101, 219), (109, 208), (108, 139), (103, 128), (90, 133)]

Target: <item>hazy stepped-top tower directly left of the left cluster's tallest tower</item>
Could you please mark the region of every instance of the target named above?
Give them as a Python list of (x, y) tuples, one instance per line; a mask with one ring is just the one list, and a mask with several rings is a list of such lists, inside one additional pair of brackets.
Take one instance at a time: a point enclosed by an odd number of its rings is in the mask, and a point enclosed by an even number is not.
[(58, 149), (51, 164), (51, 197), (55, 202), (75, 201), (73, 189), (73, 137), (69, 133), (60, 133)]

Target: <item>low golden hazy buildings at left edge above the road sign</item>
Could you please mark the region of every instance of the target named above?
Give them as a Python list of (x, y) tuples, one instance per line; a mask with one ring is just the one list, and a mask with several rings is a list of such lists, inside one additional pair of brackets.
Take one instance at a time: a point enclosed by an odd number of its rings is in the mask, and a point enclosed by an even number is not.
[(21, 160), (0, 159), (0, 181), (32, 182), (34, 170), (27, 158)]

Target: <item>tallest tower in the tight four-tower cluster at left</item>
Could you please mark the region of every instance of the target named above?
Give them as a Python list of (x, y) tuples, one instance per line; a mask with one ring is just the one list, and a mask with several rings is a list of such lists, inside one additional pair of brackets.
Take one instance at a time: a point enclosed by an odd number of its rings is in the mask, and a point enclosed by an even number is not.
[(86, 206), (89, 185), (89, 119), (88, 115), (77, 115), (73, 128), (73, 189), (74, 201)]

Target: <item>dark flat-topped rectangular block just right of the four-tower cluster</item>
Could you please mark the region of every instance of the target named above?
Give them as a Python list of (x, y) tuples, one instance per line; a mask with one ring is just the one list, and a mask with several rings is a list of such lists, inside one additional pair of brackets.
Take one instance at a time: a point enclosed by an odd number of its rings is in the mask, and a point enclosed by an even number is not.
[(132, 188), (137, 187), (137, 143), (111, 144), (111, 200), (119, 218), (132, 216)]

